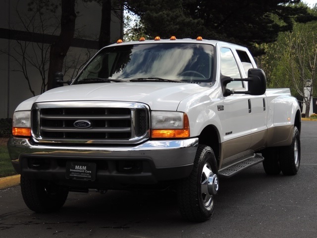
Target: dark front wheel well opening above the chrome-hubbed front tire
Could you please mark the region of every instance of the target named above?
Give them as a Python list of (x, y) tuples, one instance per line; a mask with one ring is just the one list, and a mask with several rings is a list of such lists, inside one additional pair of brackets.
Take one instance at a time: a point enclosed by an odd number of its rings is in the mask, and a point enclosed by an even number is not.
[(206, 126), (201, 132), (199, 138), (199, 144), (208, 145), (212, 148), (217, 163), (219, 164), (219, 133), (213, 125)]

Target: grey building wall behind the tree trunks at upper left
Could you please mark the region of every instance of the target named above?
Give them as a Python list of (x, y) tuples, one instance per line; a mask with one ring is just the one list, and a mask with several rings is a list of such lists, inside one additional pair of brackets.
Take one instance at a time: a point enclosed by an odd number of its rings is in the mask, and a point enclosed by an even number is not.
[[(21, 44), (28, 44), (28, 54), (33, 54), (33, 57), (40, 56), (41, 51), (36, 48), (36, 39), (39, 33), (34, 30), (33, 33), (25, 32), (23, 22), (19, 18), (19, 14), (23, 17), (30, 14), (27, 11), (28, 0), (1, 0), (0, 1), (0, 118), (12, 118), (14, 109), (22, 101), (33, 96), (29, 89), (27, 80), (21, 72), (21, 67), (12, 57), (21, 60), (19, 55), (19, 45), (16, 39)], [(59, 0), (56, 0), (59, 2)], [(78, 68), (90, 57), (92, 57), (98, 50), (98, 38), (101, 24), (101, 6), (92, 1), (83, 3), (78, 0), (76, 5), (76, 40), (73, 46), (69, 49), (63, 73), (65, 73), (65, 80), (68, 80), (78, 72)], [(122, 16), (122, 10), (118, 9)], [(51, 15), (50, 15), (51, 14)], [(53, 25), (56, 20), (60, 19), (60, 9), (55, 13), (49, 11), (43, 14), (51, 21), (46, 23), (47, 27), (45, 36), (52, 37), (59, 35), (59, 29), (55, 29)], [(117, 14), (111, 15), (111, 42), (115, 42), (122, 37), (123, 24), (122, 17), (119, 19)], [(23, 20), (26, 23), (26, 20)], [(38, 23), (39, 21), (37, 21)], [(8, 30), (9, 29), (9, 30)], [(33, 44), (33, 45), (32, 45)], [(44, 44), (49, 49), (50, 44)], [(33, 48), (36, 48), (35, 52)], [(66, 67), (67, 65), (67, 67)], [(47, 64), (48, 69), (49, 64)], [(69, 67), (69, 68), (68, 68)], [(66, 70), (67, 68), (67, 70)], [(41, 93), (42, 77), (38, 70), (31, 65), (27, 66), (30, 84), (34, 90), (35, 95)], [(46, 74), (47, 75), (47, 74)]]

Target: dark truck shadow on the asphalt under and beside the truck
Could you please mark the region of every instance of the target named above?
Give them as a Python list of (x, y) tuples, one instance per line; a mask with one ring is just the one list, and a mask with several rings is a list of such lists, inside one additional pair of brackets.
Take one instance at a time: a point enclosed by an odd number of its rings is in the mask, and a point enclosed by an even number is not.
[[(295, 176), (296, 177), (296, 176)], [(249, 168), (229, 178), (220, 178), (216, 210), (212, 220), (220, 222), (233, 207), (264, 203), (275, 196), (281, 184), (295, 177), (267, 176), (262, 165)], [(52, 214), (33, 214), (41, 219), (56, 218), (73, 226), (93, 223), (100, 228), (125, 229), (140, 223), (192, 224), (182, 219), (175, 191), (114, 191), (106, 194), (70, 192), (65, 205)], [(53, 220), (52, 220), (53, 219)], [(213, 221), (214, 222), (214, 221)]]

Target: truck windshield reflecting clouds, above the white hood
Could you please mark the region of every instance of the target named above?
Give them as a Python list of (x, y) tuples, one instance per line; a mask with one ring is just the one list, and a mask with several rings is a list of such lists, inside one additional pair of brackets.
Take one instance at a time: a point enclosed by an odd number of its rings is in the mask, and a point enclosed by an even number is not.
[(211, 82), (212, 77), (211, 45), (140, 44), (103, 49), (86, 65), (74, 84), (130, 80)]

